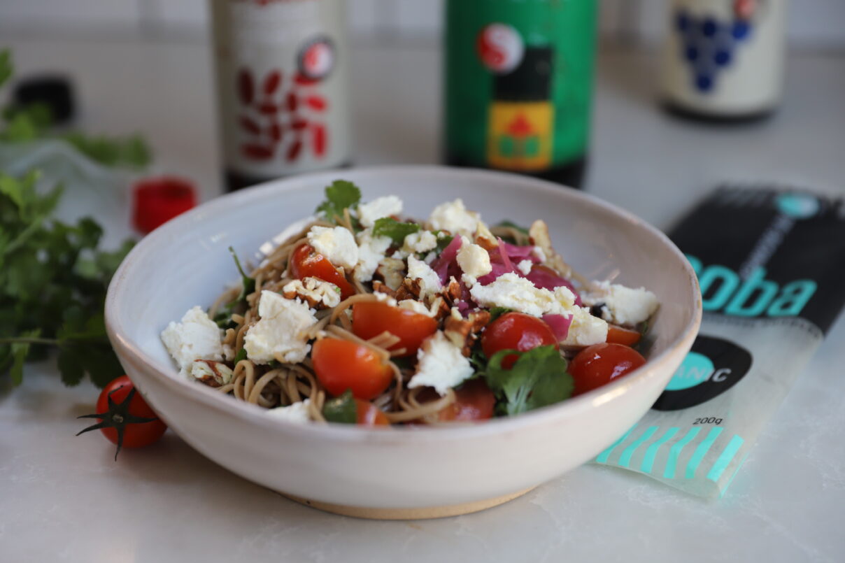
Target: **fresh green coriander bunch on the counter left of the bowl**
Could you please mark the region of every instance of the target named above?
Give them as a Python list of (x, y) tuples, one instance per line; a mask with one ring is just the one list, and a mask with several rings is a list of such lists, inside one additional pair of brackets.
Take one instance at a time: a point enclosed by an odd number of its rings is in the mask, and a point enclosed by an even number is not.
[[(0, 85), (12, 75), (8, 50), (0, 51)], [(0, 118), (0, 143), (49, 136), (42, 107), (18, 107)], [(139, 139), (59, 136), (89, 158), (110, 166), (143, 166), (149, 151)], [(99, 249), (101, 227), (88, 217), (75, 224), (53, 213), (63, 189), (36, 189), (39, 172), (14, 177), (0, 170), (0, 378), (23, 379), (27, 360), (55, 350), (66, 385), (85, 374), (100, 387), (123, 373), (106, 337), (106, 288), (132, 248)]]

